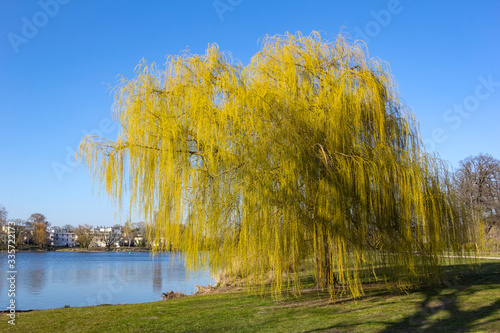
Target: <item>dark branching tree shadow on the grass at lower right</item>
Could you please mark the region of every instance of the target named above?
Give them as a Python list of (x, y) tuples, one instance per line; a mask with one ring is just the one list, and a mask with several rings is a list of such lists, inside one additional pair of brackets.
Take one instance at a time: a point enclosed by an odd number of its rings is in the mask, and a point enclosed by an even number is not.
[[(386, 323), (386, 328), (381, 332), (468, 332), (480, 323), (498, 323), (496, 327), (500, 332), (500, 294), (487, 297), (484, 299), (484, 306), (470, 310), (464, 309), (467, 307), (466, 301), (459, 300), (472, 296), (477, 291), (487, 290), (489, 285), (500, 284), (500, 263), (484, 263), (480, 271), (480, 274), (466, 273), (456, 282), (445, 281), (440, 287), (413, 291), (412, 293), (421, 293), (425, 297), (419, 305), (419, 310), (396, 323)], [(485, 320), (495, 313), (498, 313), (498, 316)], [(374, 318), (371, 322), (384, 323), (384, 320)], [(336, 332), (359, 325), (361, 324), (333, 325), (308, 332)]]

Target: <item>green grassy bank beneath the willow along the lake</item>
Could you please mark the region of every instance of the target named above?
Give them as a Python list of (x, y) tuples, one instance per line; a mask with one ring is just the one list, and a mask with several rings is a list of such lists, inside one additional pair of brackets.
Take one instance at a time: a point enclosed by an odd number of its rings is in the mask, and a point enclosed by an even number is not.
[(216, 293), (133, 305), (18, 313), (5, 332), (500, 332), (500, 261), (408, 294), (372, 286), (358, 300), (304, 292), (281, 301)]

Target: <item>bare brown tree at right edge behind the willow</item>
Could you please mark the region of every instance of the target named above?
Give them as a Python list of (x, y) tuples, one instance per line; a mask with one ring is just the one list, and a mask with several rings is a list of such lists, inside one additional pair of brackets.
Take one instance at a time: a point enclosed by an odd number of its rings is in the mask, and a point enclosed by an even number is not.
[(488, 154), (460, 161), (454, 174), (455, 191), (470, 219), (485, 222), (485, 234), (500, 224), (500, 161)]

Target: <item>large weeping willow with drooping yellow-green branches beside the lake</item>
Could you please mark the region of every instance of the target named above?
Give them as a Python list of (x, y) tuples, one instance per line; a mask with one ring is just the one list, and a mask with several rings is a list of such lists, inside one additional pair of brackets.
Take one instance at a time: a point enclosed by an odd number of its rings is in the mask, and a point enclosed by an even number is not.
[(79, 156), (192, 269), (277, 292), (313, 269), (358, 296), (370, 275), (439, 281), (443, 252), (475, 241), (387, 64), (343, 36), (268, 37), (248, 65), (216, 45), (143, 62), (115, 113), (117, 140)]

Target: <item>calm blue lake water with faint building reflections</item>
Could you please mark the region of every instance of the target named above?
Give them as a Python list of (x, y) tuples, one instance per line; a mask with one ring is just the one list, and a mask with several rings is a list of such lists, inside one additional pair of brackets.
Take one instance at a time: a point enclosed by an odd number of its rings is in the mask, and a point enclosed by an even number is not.
[[(0, 257), (0, 305), (6, 310), (6, 253)], [(153, 260), (148, 252), (20, 252), (16, 268), (16, 310), (153, 302), (170, 290), (192, 294), (195, 284), (214, 283), (207, 272), (186, 277), (178, 256)]]

